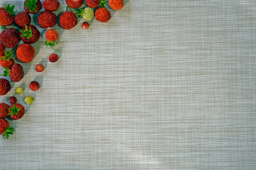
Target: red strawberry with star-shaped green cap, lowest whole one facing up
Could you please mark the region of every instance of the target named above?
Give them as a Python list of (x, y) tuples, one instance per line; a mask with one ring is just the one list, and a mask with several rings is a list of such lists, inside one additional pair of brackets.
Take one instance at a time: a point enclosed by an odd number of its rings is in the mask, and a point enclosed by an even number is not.
[(8, 114), (13, 120), (22, 118), (25, 113), (25, 108), (20, 104), (13, 104), (8, 108)]

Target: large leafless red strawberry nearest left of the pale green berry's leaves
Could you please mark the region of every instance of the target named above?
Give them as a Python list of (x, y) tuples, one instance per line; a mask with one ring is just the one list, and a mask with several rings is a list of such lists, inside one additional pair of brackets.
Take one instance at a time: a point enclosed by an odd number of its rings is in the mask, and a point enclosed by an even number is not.
[(77, 25), (76, 14), (71, 11), (65, 11), (60, 16), (60, 25), (64, 29), (71, 29)]

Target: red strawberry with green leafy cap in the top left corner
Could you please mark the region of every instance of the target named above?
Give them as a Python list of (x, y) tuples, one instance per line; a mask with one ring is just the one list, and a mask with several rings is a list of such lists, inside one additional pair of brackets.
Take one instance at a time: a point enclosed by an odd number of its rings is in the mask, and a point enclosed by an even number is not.
[(10, 26), (14, 21), (13, 11), (15, 5), (10, 6), (10, 4), (4, 6), (4, 10), (0, 10), (0, 26)]

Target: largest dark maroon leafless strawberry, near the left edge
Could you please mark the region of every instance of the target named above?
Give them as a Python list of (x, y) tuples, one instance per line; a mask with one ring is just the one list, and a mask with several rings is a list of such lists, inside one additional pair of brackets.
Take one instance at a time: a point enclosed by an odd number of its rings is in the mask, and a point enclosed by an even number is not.
[(14, 48), (20, 42), (19, 31), (15, 28), (6, 28), (0, 34), (0, 42), (7, 48)]

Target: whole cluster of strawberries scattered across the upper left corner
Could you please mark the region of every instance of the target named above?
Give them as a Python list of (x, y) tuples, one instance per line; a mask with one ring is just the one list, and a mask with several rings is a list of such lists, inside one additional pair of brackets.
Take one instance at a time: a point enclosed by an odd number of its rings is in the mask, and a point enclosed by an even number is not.
[[(108, 3), (109, 7), (113, 10), (119, 10), (124, 6), (123, 0), (85, 0), (88, 7), (80, 8), (84, 0), (66, 0), (67, 10), (64, 11), (59, 18), (60, 26), (64, 29), (70, 30), (75, 27), (78, 23), (78, 17), (82, 17), (84, 20), (92, 20), (95, 16), (96, 20), (106, 23), (111, 18), (111, 13), (105, 8), (105, 4)], [(13, 82), (19, 82), (23, 79), (24, 72), (23, 67), (14, 61), (14, 51), (6, 51), (6, 48), (15, 48), (20, 40), (24, 43), (19, 45), (16, 50), (17, 59), (20, 62), (28, 63), (31, 62), (35, 57), (35, 49), (32, 43), (37, 42), (40, 39), (41, 33), (36, 26), (30, 25), (31, 16), (29, 14), (36, 14), (43, 7), (46, 11), (41, 12), (38, 15), (37, 21), (41, 28), (51, 28), (57, 23), (57, 16), (53, 11), (58, 10), (60, 3), (58, 0), (44, 0), (41, 3), (40, 0), (25, 0), (24, 1), (24, 12), (20, 12), (15, 16), (15, 6), (6, 5), (4, 8), (0, 8), (0, 26), (3, 30), (0, 33), (0, 65), (5, 68), (3, 76), (9, 76)], [(77, 17), (78, 16), (78, 17)], [(15, 23), (21, 29), (6, 28)], [(88, 22), (82, 23), (82, 28), (89, 28)], [(58, 40), (58, 33), (53, 29), (49, 29), (45, 33), (46, 41), (44, 45), (50, 46), (54, 50)], [(51, 54), (49, 56), (50, 62), (56, 62), (58, 60), (57, 54)], [(44, 71), (44, 66), (41, 64), (36, 65), (36, 71)], [(29, 84), (29, 88), (32, 91), (39, 89), (39, 83), (32, 81)], [(0, 95), (6, 95), (11, 90), (10, 82), (7, 79), (0, 78)], [(18, 87), (16, 93), (20, 94), (23, 92), (23, 88)], [(29, 105), (34, 101), (32, 96), (27, 96), (25, 102)], [(0, 103), (0, 134), (4, 138), (8, 139), (10, 134), (13, 134), (15, 130), (9, 127), (9, 122), (6, 120), (7, 116), (11, 119), (20, 119), (25, 109), (23, 105), (17, 104), (17, 98), (12, 96), (9, 98), (10, 106), (6, 103)]]

